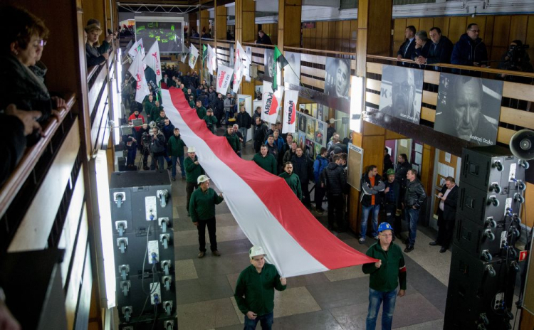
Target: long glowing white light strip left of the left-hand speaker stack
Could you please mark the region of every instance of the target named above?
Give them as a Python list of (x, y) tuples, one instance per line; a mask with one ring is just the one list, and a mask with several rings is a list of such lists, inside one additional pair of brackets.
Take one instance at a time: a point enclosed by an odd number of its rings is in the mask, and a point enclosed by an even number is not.
[[(111, 147), (111, 146), (109, 146)], [(115, 256), (110, 206), (110, 185), (108, 182), (108, 161), (105, 150), (99, 150), (95, 159), (98, 213), (100, 213), (100, 240), (104, 259), (105, 297), (107, 308), (115, 307)]]

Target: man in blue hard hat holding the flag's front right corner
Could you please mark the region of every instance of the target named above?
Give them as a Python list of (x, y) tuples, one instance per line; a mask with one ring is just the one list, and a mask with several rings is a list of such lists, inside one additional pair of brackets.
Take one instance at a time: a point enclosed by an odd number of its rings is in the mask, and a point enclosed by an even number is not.
[[(367, 312), (366, 328), (374, 330), (377, 316), (382, 307), (382, 330), (392, 328), (393, 312), (397, 295), (406, 294), (406, 265), (404, 255), (399, 245), (392, 243), (393, 228), (389, 223), (380, 223), (378, 227), (378, 242), (371, 245), (366, 255), (378, 259), (363, 265), (362, 270), (369, 277), (369, 310)], [(397, 293), (397, 286), (400, 289)]]

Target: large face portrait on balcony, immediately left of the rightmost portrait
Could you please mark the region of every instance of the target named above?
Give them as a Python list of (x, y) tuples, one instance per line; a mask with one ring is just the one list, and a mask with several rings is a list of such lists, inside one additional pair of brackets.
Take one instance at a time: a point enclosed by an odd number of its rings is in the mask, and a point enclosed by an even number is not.
[(383, 65), (379, 111), (419, 124), (423, 76), (423, 70)]

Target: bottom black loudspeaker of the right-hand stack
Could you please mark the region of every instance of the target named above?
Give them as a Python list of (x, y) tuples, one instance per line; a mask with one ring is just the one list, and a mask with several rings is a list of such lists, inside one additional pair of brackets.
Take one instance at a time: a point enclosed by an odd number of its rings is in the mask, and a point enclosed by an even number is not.
[(512, 329), (515, 275), (506, 258), (485, 262), (454, 245), (444, 329)]

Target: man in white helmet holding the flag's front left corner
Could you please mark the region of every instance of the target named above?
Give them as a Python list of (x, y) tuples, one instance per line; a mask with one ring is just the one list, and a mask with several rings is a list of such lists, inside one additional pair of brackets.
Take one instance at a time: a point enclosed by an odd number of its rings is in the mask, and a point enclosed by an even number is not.
[(273, 326), (274, 289), (286, 289), (286, 278), (280, 277), (276, 267), (265, 262), (265, 252), (261, 246), (253, 246), (248, 251), (251, 264), (237, 279), (234, 298), (241, 313), (245, 314), (244, 330), (271, 330)]

